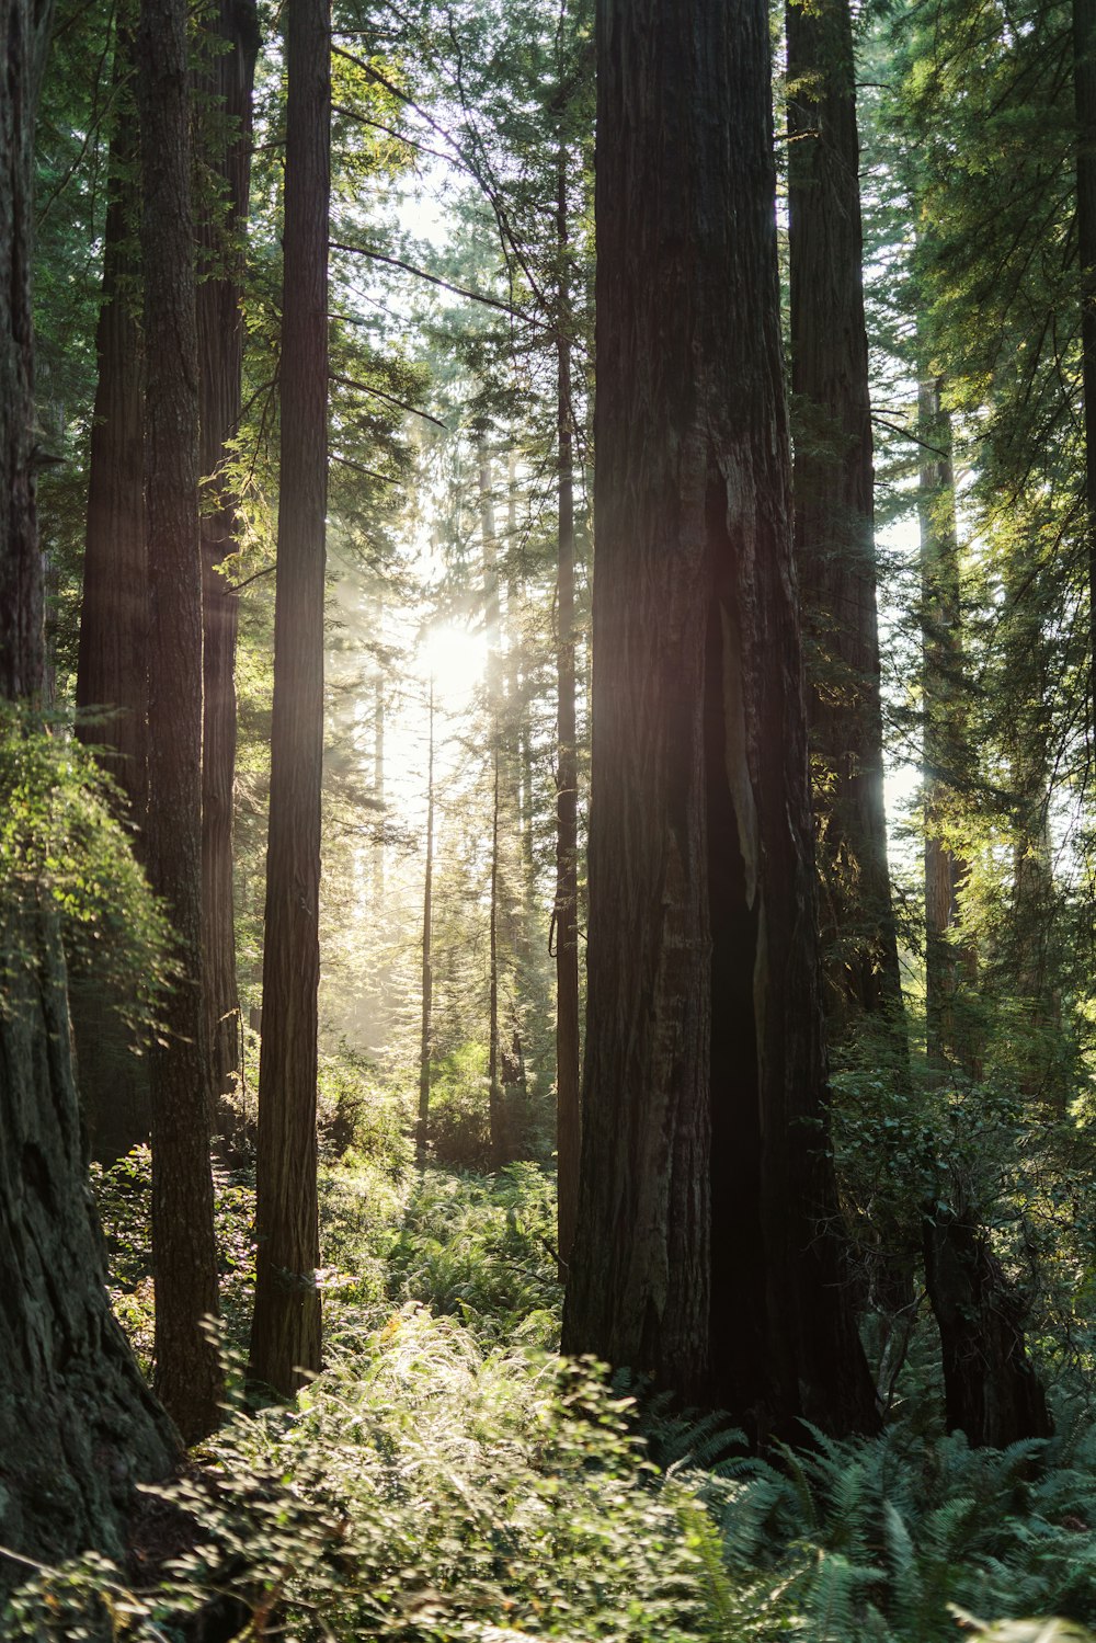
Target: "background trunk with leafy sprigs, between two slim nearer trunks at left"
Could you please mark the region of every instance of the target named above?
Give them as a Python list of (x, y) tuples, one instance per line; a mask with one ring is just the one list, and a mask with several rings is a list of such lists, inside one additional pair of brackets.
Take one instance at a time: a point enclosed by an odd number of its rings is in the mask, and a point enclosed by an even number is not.
[[(202, 508), (202, 930), (205, 1015), (214, 1098), (233, 1089), (240, 1071), (240, 996), (232, 894), (232, 792), (237, 757), (235, 656), (238, 598), (217, 568), (237, 550), (237, 499), (223, 478), (227, 442), (240, 422), (243, 365), (242, 238), (251, 179), (251, 87), (258, 56), (255, 0), (220, 0), (209, 23), (200, 89), (212, 107), (207, 141), (210, 179), (223, 189), (223, 215), (207, 212), (199, 233), (207, 278), (197, 294), (200, 381), (199, 465), (207, 478)], [(217, 49), (210, 49), (215, 46)], [(219, 49), (223, 46), (225, 49)], [(222, 1104), (217, 1124), (233, 1127)]]

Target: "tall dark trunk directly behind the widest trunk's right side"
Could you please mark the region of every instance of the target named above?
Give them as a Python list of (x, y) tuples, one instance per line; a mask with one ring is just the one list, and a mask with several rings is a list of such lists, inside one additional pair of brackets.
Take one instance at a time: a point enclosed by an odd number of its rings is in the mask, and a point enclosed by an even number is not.
[[(787, 7), (795, 564), (830, 1033), (900, 1014), (882, 808), (859, 143), (848, 0)], [(904, 1053), (904, 1032), (900, 1033)]]

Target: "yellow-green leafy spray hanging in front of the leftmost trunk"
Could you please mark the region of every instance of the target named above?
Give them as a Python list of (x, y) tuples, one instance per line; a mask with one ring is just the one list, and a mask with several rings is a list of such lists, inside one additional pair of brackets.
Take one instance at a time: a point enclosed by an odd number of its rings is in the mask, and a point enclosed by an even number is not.
[[(133, 1035), (154, 1027), (173, 933), (118, 820), (122, 800), (61, 716), (0, 703), (0, 905), (46, 904), (72, 974), (102, 983)], [(33, 963), (7, 945), (5, 963)]]

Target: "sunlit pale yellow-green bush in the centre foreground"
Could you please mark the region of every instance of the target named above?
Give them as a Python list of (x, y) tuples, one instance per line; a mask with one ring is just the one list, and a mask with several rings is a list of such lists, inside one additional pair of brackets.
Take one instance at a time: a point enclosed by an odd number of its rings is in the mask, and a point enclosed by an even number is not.
[(299, 1643), (789, 1630), (784, 1582), (759, 1602), (739, 1589), (697, 1484), (659, 1479), (624, 1413), (588, 1365), (483, 1352), (460, 1324), (404, 1308), (338, 1337), (299, 1408), (237, 1416), (205, 1446), (168, 1490), (196, 1530), (154, 1590), (117, 1572), (112, 1587), (102, 1566), (44, 1576), (3, 1635), (87, 1612), (89, 1576), (125, 1612), (123, 1635), (146, 1640), (223, 1592), (251, 1635)]

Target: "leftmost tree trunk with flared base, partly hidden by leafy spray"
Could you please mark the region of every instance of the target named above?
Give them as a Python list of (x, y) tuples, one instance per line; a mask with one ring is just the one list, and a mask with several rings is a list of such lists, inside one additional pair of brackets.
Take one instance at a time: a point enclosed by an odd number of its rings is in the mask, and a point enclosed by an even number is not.
[[(33, 112), (49, 7), (5, 0), (0, 99), (0, 697), (41, 698), (35, 521)], [(0, 794), (0, 803), (8, 795)], [(110, 1314), (69, 1058), (61, 935), (28, 891), (0, 912), (0, 1546), (123, 1556), (135, 1482), (177, 1438)], [(25, 1569), (0, 1558), (0, 1597)]]

